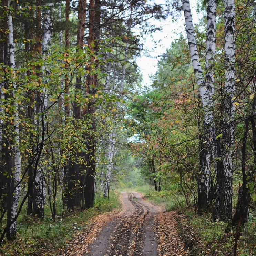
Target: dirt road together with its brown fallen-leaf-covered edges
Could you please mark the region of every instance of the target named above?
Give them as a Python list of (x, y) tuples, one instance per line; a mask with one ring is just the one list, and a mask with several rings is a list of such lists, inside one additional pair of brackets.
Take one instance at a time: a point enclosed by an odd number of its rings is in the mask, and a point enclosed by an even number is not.
[(121, 212), (99, 215), (59, 255), (191, 255), (189, 243), (184, 244), (178, 234), (177, 219), (176, 211), (164, 212), (139, 193), (122, 192)]

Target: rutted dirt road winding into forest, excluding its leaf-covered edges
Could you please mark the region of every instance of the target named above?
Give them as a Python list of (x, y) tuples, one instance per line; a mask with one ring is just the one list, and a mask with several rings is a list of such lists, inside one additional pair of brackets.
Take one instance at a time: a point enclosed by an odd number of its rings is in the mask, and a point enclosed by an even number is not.
[(102, 229), (84, 255), (159, 255), (153, 216), (160, 209), (143, 201), (136, 192), (122, 195), (122, 212)]

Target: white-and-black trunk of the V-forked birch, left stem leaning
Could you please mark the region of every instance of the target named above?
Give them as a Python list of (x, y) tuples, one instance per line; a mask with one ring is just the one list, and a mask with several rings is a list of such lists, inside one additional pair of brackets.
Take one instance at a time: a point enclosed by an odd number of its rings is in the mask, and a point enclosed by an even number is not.
[[(183, 0), (183, 10), (186, 22), (186, 33), (188, 39), (188, 45), (190, 49), (190, 55), (192, 59), (192, 65), (194, 69), (194, 74), (196, 77), (196, 83), (199, 88), (199, 95), (201, 98), (202, 106), (204, 109), (204, 127), (207, 129), (207, 133), (205, 133), (205, 148), (203, 154), (203, 159), (201, 162), (200, 172), (201, 172), (201, 181), (198, 184), (198, 192), (204, 191), (206, 196), (207, 204), (211, 201), (211, 183), (210, 183), (210, 161), (211, 158), (215, 158), (217, 156), (215, 150), (215, 127), (213, 124), (213, 113), (212, 113), (212, 95), (214, 94), (214, 78), (213, 73), (209, 72), (207, 74), (207, 82), (204, 81), (202, 67), (199, 62), (199, 54), (196, 45), (196, 38), (195, 38), (195, 31), (193, 26), (192, 14), (190, 9), (190, 3), (188, 0)], [(210, 4), (210, 3), (209, 3)], [(212, 4), (211, 12), (214, 13), (213, 9), (216, 9), (216, 6)], [(212, 14), (212, 19), (209, 21), (207, 26), (207, 61), (206, 65), (208, 68), (210, 67), (211, 63), (210, 60), (213, 58), (215, 45), (214, 45), (214, 36), (215, 32), (212, 31), (215, 29), (215, 17)], [(204, 186), (205, 188), (201, 187)], [(208, 207), (209, 208), (209, 207)]]

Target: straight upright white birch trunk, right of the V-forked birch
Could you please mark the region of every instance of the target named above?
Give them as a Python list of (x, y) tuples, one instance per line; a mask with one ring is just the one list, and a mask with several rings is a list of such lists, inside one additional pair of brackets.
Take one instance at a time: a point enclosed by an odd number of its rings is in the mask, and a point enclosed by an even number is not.
[(235, 95), (235, 3), (225, 0), (225, 100), (223, 119), (223, 153), (225, 197), (224, 217), (232, 218), (232, 175), (233, 175), (233, 147), (234, 147), (234, 95)]

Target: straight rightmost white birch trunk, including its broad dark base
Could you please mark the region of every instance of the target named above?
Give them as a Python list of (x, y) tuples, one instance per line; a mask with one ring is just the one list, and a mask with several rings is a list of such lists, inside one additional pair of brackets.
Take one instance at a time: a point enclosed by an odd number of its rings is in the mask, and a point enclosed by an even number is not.
[(235, 4), (225, 0), (225, 89), (222, 121), (222, 169), (216, 173), (217, 198), (213, 219), (232, 218), (232, 176), (234, 147), (234, 95), (235, 95)]

